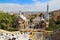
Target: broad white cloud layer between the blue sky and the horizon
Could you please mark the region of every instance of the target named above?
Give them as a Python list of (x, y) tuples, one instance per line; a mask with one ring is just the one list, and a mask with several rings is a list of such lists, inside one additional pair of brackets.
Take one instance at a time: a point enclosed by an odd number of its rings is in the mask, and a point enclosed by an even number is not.
[[(46, 11), (47, 3), (40, 2), (38, 0), (33, 4), (13, 4), (13, 3), (0, 3), (0, 10), (3, 11)], [(60, 0), (51, 0), (49, 1), (49, 11), (60, 9)]]

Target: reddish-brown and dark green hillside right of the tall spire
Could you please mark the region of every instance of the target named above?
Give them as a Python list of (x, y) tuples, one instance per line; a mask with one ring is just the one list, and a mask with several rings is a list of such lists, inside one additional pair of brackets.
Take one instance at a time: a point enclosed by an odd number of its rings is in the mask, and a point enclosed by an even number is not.
[(60, 28), (60, 10), (50, 12), (49, 27), (47, 30), (56, 30)]

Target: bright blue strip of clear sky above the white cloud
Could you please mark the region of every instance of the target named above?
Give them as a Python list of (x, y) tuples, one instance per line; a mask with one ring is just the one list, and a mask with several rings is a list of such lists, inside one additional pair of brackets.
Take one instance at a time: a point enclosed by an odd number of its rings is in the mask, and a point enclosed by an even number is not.
[(34, 1), (47, 2), (49, 0), (0, 0), (0, 3), (32, 4)]

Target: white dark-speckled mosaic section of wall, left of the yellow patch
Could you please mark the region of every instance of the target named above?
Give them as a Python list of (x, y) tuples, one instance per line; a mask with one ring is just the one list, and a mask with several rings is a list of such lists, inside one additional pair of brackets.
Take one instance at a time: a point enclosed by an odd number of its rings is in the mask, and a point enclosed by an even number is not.
[(30, 40), (30, 32), (17, 34), (0, 33), (0, 40)]

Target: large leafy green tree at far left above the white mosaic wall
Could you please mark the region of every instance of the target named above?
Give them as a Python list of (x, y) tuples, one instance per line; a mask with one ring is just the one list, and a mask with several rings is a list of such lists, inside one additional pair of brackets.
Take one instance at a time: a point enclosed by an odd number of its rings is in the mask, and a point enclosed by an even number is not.
[(13, 28), (12, 25), (16, 19), (16, 16), (11, 16), (7, 13), (0, 13), (0, 29), (9, 30)]

